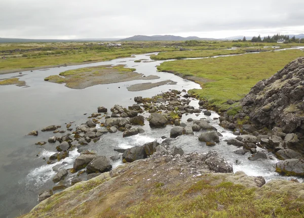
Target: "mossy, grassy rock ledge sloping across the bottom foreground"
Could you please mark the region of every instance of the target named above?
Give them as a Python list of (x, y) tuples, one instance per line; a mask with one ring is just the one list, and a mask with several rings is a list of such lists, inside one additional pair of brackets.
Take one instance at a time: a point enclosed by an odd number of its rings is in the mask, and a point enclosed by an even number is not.
[(77, 183), (20, 217), (272, 217), (274, 210), (278, 217), (301, 217), (304, 212), (304, 184), (264, 185), (263, 178), (242, 171), (214, 173), (206, 158), (157, 152)]

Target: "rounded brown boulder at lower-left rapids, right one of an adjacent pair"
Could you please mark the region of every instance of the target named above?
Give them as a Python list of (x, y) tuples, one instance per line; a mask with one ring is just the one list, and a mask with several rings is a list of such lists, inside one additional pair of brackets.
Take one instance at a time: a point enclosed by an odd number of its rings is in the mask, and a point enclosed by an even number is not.
[(110, 160), (105, 156), (96, 156), (88, 165), (87, 173), (106, 172), (112, 168)]

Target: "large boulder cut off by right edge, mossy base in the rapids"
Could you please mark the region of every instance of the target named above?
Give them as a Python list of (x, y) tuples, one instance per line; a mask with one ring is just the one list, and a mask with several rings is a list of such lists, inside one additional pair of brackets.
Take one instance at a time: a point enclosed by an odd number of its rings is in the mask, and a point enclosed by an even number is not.
[(287, 159), (276, 164), (276, 172), (284, 176), (304, 176), (304, 159)]

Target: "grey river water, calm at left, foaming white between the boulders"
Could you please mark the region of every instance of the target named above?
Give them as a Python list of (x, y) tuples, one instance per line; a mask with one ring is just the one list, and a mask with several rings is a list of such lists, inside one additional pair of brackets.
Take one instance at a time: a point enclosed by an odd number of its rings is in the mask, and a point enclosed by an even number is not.
[[(149, 61), (134, 63), (134, 60), (138, 59)], [(0, 126), (0, 217), (11, 218), (28, 212), (38, 203), (37, 194), (54, 186), (52, 178), (55, 172), (52, 167), (57, 163), (47, 165), (43, 158), (48, 159), (50, 155), (55, 153), (57, 144), (35, 145), (36, 142), (47, 141), (54, 134), (39, 131), (37, 137), (26, 136), (31, 130), (40, 130), (51, 124), (62, 125), (62, 129), (65, 129), (65, 123), (74, 121), (72, 127), (75, 128), (88, 120), (88, 115), (84, 115), (85, 113), (97, 112), (98, 106), (104, 106), (108, 110), (115, 104), (128, 107), (135, 103), (133, 101), (135, 96), (152, 97), (171, 89), (180, 91), (200, 89), (200, 85), (192, 81), (171, 73), (157, 72), (156, 66), (162, 62), (164, 61), (151, 61), (149, 54), (146, 54), (106, 62), (0, 75), (0, 79), (21, 76), (20, 80), (24, 80), (28, 85), (26, 88), (15, 85), (0, 86), (0, 120), (2, 123)], [(73, 90), (65, 87), (64, 84), (44, 81), (45, 77), (66, 70), (108, 64), (125, 64), (126, 67), (136, 68), (136, 72), (145, 76), (158, 75), (160, 78), (95, 85), (83, 90)], [(176, 84), (162, 85), (140, 92), (127, 90), (127, 87), (132, 84), (159, 82), (168, 79), (175, 81)], [(190, 104), (195, 107), (199, 106), (197, 100), (193, 100)], [(144, 114), (144, 116), (147, 115), (147, 113)], [(281, 178), (275, 172), (275, 163), (278, 160), (272, 154), (269, 154), (271, 158), (268, 160), (255, 162), (247, 159), (249, 154), (235, 155), (233, 151), (237, 148), (229, 146), (223, 141), (235, 138), (235, 136), (229, 130), (220, 127), (218, 120), (213, 119), (218, 116), (212, 112), (209, 117), (204, 114), (199, 116), (189, 114), (182, 117), (183, 122), (186, 122), (189, 117), (194, 119), (207, 118), (211, 122), (210, 124), (214, 125), (218, 132), (223, 135), (220, 137), (220, 143), (216, 146), (203, 146), (203, 143), (198, 141), (199, 133), (195, 133), (195, 136), (180, 136), (175, 144), (181, 146), (185, 152), (217, 151), (219, 155), (233, 163), (234, 171), (243, 170), (250, 176), (263, 176), (267, 181)], [(130, 148), (146, 142), (161, 140), (162, 136), (169, 137), (172, 126), (151, 129), (146, 121), (143, 128), (145, 133), (127, 138), (123, 138), (121, 132), (105, 134), (99, 142), (89, 145), (87, 148), (95, 150), (100, 155), (115, 155), (117, 152), (113, 151), (113, 148)], [(70, 152), (70, 156), (61, 161), (65, 162), (63, 167), (71, 168), (77, 156), (79, 153), (76, 150)], [(236, 164), (236, 160), (238, 160), (238, 164)], [(115, 162), (113, 166), (118, 164), (121, 162)], [(69, 175), (68, 179), (71, 177), (73, 175)]]

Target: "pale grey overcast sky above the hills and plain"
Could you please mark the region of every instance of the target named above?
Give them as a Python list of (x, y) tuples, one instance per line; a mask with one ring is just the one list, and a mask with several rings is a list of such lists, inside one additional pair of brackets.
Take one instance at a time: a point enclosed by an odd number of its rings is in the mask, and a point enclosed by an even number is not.
[(304, 33), (303, 0), (0, 0), (0, 37)]

